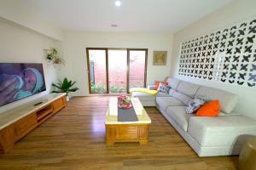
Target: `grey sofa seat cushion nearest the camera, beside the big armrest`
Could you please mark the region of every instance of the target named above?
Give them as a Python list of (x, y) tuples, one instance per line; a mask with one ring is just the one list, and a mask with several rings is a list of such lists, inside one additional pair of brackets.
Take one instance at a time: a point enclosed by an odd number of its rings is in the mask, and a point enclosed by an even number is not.
[(185, 132), (188, 130), (189, 118), (195, 116), (186, 113), (186, 106), (170, 106), (166, 109), (166, 114)]

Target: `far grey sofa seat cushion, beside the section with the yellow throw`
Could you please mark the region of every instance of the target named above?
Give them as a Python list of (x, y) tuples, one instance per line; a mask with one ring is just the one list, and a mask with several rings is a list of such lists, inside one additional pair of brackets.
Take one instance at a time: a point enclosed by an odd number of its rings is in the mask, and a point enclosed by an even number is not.
[(169, 106), (183, 106), (183, 102), (178, 99), (172, 97), (157, 97), (156, 98), (157, 105), (160, 105), (165, 111)]

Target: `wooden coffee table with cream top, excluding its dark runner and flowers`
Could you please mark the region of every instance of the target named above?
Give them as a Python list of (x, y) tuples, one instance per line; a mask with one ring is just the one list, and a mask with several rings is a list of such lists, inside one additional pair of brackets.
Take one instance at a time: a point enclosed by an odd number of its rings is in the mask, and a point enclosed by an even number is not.
[(118, 122), (117, 98), (109, 99), (106, 116), (106, 144), (116, 142), (139, 142), (148, 144), (148, 127), (151, 124), (148, 113), (137, 98), (131, 98), (131, 103), (137, 114), (137, 122)]

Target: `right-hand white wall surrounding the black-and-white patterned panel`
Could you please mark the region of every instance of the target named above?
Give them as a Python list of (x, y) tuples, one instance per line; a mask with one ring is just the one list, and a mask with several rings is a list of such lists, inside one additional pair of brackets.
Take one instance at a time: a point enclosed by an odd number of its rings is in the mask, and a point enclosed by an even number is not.
[(238, 85), (210, 82), (177, 75), (178, 54), (180, 49), (179, 45), (181, 42), (189, 40), (192, 37), (211, 33), (212, 31), (224, 28), (225, 26), (232, 26), (242, 20), (247, 20), (253, 17), (255, 19), (255, 8), (255, 0), (235, 0), (224, 6), (224, 8), (220, 8), (214, 13), (207, 15), (205, 18), (196, 21), (180, 31), (177, 31), (173, 37), (171, 73), (173, 77), (184, 81), (220, 88), (233, 94), (238, 94), (240, 96), (240, 101), (236, 106), (235, 112), (251, 116), (256, 119), (256, 88), (241, 88)]

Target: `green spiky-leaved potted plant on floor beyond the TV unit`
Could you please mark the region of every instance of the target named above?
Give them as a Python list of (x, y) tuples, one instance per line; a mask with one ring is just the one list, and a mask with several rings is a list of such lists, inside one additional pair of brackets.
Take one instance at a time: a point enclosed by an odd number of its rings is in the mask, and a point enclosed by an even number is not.
[(68, 81), (67, 77), (65, 77), (62, 82), (59, 80), (59, 82), (56, 83), (56, 84), (52, 83), (53, 87), (59, 89), (59, 91), (52, 91), (52, 93), (66, 93), (67, 94), (67, 101), (69, 101), (68, 93), (75, 92), (75, 91), (79, 90), (79, 88), (73, 87), (73, 85), (75, 83), (76, 82)]

